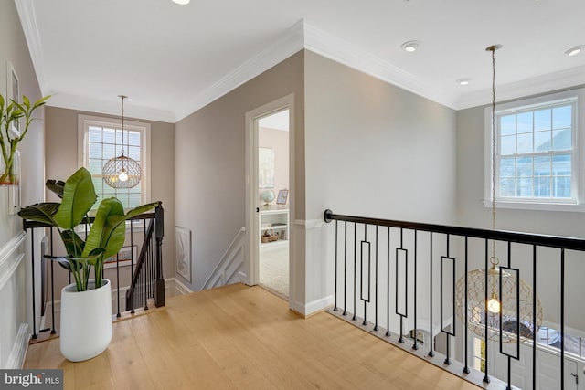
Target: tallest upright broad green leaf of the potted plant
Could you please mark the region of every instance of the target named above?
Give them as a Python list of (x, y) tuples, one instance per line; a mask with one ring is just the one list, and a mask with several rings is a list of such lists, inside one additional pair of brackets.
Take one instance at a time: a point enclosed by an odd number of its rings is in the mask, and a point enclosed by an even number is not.
[(85, 168), (80, 168), (65, 182), (63, 200), (54, 218), (58, 226), (72, 229), (80, 225), (97, 198), (90, 172)]

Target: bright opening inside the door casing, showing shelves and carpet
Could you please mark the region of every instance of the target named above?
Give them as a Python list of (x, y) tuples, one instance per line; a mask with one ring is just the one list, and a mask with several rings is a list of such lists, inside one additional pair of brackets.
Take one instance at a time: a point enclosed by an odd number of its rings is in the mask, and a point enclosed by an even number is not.
[(259, 283), (289, 297), (289, 109), (258, 120)]

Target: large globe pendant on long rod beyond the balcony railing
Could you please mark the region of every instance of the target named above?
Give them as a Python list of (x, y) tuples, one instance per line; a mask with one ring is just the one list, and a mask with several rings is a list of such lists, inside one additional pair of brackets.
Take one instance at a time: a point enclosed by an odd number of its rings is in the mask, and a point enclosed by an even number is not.
[[(492, 229), (495, 230), (495, 50), (500, 45), (487, 47), (492, 52)], [(456, 301), (459, 320), (470, 331), (492, 341), (517, 343), (533, 337), (542, 323), (542, 307), (537, 297), (533, 305), (533, 290), (523, 279), (519, 269), (500, 268), (492, 240), (489, 269), (473, 269), (457, 280)], [(487, 256), (487, 255), (486, 255)], [(487, 280), (486, 280), (487, 278)], [(486, 291), (487, 289), (487, 291)], [(536, 315), (535, 315), (536, 311)], [(536, 324), (534, 323), (536, 318)], [(487, 332), (486, 332), (487, 331)]]

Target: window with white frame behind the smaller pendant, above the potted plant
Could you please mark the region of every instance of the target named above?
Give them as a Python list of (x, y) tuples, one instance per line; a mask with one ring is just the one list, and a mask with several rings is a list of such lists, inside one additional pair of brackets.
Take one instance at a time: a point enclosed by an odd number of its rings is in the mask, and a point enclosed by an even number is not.
[[(98, 201), (93, 209), (100, 205), (103, 198), (116, 196), (124, 208), (140, 206), (150, 201), (150, 124), (124, 121), (123, 146), (122, 126), (118, 120), (80, 115), (79, 127), (79, 165), (86, 167), (93, 177)], [(103, 164), (122, 152), (141, 163), (143, 178), (140, 184), (128, 189), (115, 189), (105, 184), (101, 175)]]

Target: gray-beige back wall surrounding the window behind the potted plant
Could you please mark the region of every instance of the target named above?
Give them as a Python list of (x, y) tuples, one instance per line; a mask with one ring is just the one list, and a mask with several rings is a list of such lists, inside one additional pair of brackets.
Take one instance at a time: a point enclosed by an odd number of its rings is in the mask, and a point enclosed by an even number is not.
[[(47, 107), (46, 170), (48, 178), (66, 180), (70, 174), (79, 168), (77, 156), (79, 114), (119, 119), (119, 117), (101, 113)], [(173, 228), (175, 226), (174, 125), (172, 123), (132, 118), (128, 118), (128, 120), (142, 121), (151, 125), (151, 199), (153, 201), (162, 201), (165, 208), (165, 238), (163, 239), (165, 264), (163, 274), (165, 278), (173, 278), (175, 275), (175, 229)], [(53, 201), (57, 200), (55, 195), (51, 193), (48, 193), (47, 197)], [(60, 268), (58, 269), (60, 271)], [(65, 283), (65, 277), (59, 279), (59, 283)]]

